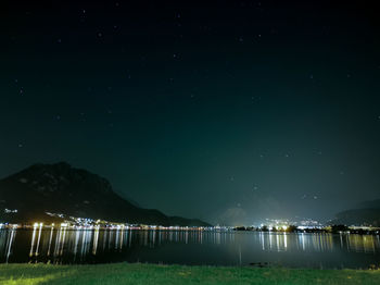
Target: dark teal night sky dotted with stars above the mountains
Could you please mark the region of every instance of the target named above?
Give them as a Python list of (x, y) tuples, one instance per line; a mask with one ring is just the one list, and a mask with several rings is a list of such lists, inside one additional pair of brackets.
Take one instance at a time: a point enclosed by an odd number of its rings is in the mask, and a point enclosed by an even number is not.
[(378, 13), (330, 2), (2, 2), (0, 176), (67, 161), (220, 223), (379, 198)]

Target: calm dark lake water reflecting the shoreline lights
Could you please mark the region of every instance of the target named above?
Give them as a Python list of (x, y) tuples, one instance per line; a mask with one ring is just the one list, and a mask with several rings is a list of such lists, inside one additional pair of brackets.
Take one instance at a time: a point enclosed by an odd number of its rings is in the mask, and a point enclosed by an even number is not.
[(0, 262), (152, 262), (363, 268), (380, 264), (379, 236), (259, 232), (0, 230)]

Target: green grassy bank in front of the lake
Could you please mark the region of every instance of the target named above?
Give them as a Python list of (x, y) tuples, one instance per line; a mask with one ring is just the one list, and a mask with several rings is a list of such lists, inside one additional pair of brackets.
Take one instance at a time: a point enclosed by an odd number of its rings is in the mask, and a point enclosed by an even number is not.
[(0, 264), (0, 284), (380, 284), (380, 270), (256, 269), (116, 263)]

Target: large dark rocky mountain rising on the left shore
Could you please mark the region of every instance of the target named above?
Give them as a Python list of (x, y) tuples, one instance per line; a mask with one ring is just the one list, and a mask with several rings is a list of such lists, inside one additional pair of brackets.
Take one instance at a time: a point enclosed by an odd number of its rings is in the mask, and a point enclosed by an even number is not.
[(114, 193), (105, 178), (65, 162), (34, 164), (0, 179), (0, 222), (54, 220), (46, 212), (123, 223), (208, 225), (139, 208)]

